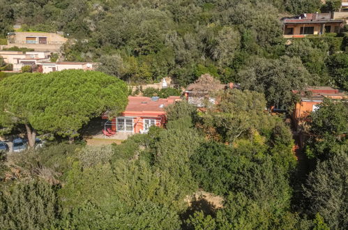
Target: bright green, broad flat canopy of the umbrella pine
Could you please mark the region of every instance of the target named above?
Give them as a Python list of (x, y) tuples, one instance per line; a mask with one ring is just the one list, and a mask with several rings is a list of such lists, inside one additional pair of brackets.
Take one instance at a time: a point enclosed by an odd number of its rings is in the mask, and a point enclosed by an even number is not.
[(15, 75), (1, 81), (0, 91), (0, 104), (16, 123), (63, 137), (77, 136), (90, 118), (118, 114), (127, 103), (124, 82), (83, 70)]

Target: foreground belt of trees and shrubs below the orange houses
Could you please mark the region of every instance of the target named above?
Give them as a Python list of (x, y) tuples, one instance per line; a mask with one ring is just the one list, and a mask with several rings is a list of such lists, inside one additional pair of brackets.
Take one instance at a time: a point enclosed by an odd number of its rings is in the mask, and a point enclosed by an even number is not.
[(262, 94), (220, 96), (205, 113), (171, 105), (167, 129), (120, 145), (9, 155), (1, 229), (347, 229), (347, 102), (313, 115), (308, 167)]

